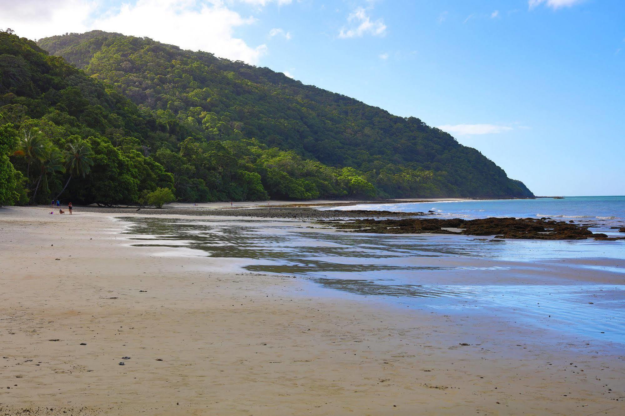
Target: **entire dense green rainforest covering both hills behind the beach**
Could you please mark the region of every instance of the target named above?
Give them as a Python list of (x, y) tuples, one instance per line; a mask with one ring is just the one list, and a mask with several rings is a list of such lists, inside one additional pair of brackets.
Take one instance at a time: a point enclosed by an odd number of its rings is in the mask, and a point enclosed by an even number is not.
[(0, 169), (0, 205), (532, 195), (414, 117), (101, 31), (0, 32)]

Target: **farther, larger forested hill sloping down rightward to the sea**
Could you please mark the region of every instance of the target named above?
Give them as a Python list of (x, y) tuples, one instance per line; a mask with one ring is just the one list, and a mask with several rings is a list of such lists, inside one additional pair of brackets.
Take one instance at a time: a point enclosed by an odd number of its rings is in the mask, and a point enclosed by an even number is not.
[[(278, 169), (288, 176), (285, 181), (300, 181), (307, 196), (532, 195), (480, 152), (415, 117), (392, 116), (268, 68), (102, 31), (48, 37), (38, 44), (153, 111), (159, 129), (172, 137), (248, 147), (251, 141), (294, 151), (260, 165), (251, 160), (266, 188), (281, 181), (268, 173)], [(146, 144), (151, 151), (178, 151), (162, 139)], [(297, 157), (331, 168), (323, 177), (312, 165), (302, 171)], [(332, 185), (344, 174), (359, 178), (353, 189)], [(274, 197), (297, 197), (288, 186), (268, 191)]]

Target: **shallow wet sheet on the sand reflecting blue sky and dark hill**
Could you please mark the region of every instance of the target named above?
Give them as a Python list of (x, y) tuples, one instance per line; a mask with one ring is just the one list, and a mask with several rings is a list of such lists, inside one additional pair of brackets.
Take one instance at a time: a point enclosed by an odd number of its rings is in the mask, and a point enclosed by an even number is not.
[(136, 246), (245, 259), (251, 272), (625, 344), (625, 243), (328, 232), (302, 222), (128, 218)]

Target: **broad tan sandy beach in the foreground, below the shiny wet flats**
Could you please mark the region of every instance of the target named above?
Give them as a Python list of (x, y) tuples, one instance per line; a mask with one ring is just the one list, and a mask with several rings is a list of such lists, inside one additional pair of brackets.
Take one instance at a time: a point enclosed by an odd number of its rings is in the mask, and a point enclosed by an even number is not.
[(0, 415), (625, 414), (622, 351), (307, 297), (47, 212), (0, 208)]

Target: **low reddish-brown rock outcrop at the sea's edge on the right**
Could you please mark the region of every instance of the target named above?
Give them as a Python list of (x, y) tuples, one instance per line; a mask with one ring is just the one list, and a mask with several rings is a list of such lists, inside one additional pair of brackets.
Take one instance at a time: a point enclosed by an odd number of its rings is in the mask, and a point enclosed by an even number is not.
[(379, 234), (464, 234), (495, 235), (497, 239), (532, 240), (618, 240), (625, 237), (608, 237), (606, 234), (593, 234), (584, 225), (564, 221), (534, 218), (485, 218), (464, 220), (454, 219), (356, 219), (347, 222), (325, 221), (338, 229), (354, 232)]

